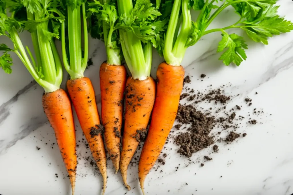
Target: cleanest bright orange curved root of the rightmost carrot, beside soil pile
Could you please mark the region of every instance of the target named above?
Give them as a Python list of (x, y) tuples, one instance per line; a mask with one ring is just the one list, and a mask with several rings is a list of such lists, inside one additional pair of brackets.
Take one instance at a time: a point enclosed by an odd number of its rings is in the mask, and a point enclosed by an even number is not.
[(151, 125), (139, 159), (138, 176), (144, 193), (144, 180), (163, 149), (176, 118), (183, 88), (184, 68), (161, 63)]

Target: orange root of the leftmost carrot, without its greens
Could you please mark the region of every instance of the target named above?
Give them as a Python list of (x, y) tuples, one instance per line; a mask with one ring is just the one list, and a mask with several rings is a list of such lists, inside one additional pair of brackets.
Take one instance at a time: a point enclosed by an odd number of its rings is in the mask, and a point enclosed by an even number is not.
[(45, 93), (42, 97), (42, 104), (55, 131), (57, 144), (69, 174), (72, 194), (74, 194), (77, 160), (75, 128), (70, 100), (63, 89), (58, 89), (54, 92)]

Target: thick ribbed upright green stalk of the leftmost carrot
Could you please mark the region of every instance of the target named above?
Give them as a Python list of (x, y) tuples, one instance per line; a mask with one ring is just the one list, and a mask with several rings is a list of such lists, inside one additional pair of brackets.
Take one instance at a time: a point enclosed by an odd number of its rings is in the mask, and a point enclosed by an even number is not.
[[(35, 14), (35, 19), (40, 19), (37, 14)], [(47, 40), (42, 29), (48, 28), (48, 22), (41, 23), (37, 26), (38, 43), (40, 48), (41, 61), (42, 61), (42, 71), (44, 75), (44, 80), (51, 84), (56, 82), (56, 68), (54, 63), (54, 56), (51, 49), (50, 41)]]

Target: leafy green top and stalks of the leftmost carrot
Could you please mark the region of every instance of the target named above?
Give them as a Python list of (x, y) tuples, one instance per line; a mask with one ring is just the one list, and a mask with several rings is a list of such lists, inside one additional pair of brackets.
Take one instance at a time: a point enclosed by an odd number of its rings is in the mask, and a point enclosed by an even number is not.
[[(54, 39), (59, 38), (60, 22), (64, 16), (56, 6), (52, 0), (0, 1), (0, 36), (9, 37), (13, 43), (13, 48), (0, 45), (3, 51), (0, 67), (6, 73), (11, 73), (12, 59), (8, 52), (15, 52), (45, 92), (59, 89), (62, 81), (62, 65)], [(8, 10), (11, 14), (7, 14)], [(36, 60), (30, 49), (23, 46), (18, 35), (24, 29), (31, 34)]]

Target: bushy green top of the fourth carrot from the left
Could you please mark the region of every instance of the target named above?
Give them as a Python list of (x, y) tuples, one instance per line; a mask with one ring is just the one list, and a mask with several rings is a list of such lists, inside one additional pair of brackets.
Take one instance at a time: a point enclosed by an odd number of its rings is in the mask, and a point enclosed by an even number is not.
[(134, 3), (132, 0), (117, 0), (120, 20), (116, 28), (132, 78), (144, 80), (151, 71), (152, 45), (159, 46), (159, 32), (163, 31), (166, 22), (158, 20), (161, 13), (149, 0)]

